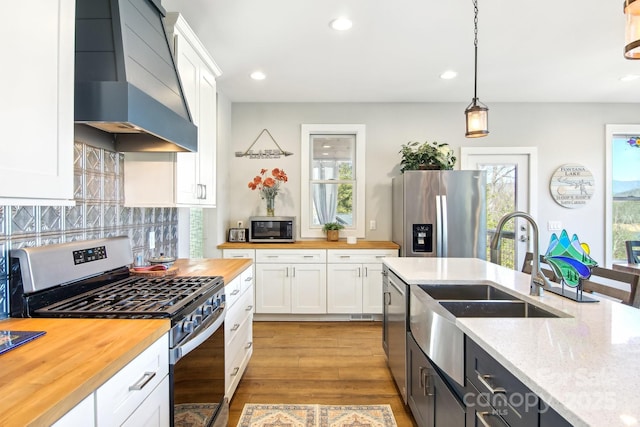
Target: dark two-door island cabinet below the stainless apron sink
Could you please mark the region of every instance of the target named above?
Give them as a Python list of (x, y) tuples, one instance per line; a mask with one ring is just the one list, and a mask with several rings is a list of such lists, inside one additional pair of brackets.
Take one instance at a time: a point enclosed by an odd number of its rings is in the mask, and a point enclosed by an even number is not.
[(407, 333), (407, 402), (419, 427), (464, 426), (466, 409)]

